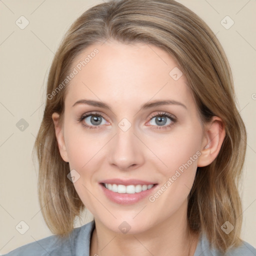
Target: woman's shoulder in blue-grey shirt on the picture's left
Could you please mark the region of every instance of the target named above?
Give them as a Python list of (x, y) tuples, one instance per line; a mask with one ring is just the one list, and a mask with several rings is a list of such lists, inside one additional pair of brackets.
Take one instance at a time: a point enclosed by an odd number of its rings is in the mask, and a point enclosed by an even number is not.
[(51, 235), (18, 247), (3, 256), (69, 256), (69, 255), (89, 255), (90, 235), (94, 228), (94, 220), (74, 228), (71, 233), (64, 238)]

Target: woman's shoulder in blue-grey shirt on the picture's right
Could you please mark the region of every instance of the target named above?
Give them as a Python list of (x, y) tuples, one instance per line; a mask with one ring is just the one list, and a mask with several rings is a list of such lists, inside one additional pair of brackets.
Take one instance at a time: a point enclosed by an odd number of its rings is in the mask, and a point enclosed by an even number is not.
[(256, 256), (256, 249), (252, 245), (243, 240), (241, 242), (240, 246), (232, 247), (223, 254), (210, 246), (205, 234), (200, 234), (194, 256)]

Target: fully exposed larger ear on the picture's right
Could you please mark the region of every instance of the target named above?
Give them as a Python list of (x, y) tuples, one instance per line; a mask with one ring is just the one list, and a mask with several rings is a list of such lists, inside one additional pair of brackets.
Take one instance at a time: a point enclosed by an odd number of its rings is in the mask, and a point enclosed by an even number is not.
[(216, 157), (225, 137), (224, 123), (218, 116), (213, 116), (211, 121), (205, 125), (206, 136), (201, 143), (201, 155), (197, 166), (209, 165)]

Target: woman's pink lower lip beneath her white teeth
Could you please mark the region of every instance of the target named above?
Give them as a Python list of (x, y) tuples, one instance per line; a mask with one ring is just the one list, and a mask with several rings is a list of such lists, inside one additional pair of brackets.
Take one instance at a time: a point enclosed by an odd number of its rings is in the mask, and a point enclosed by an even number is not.
[(138, 193), (134, 193), (134, 194), (128, 194), (128, 193), (113, 192), (105, 188), (105, 186), (102, 183), (100, 183), (99, 185), (102, 187), (103, 192), (108, 199), (119, 204), (132, 204), (132, 203), (138, 202), (139, 200), (145, 198), (150, 193), (152, 193), (152, 190), (157, 186), (157, 184), (154, 184), (150, 189), (147, 189)]

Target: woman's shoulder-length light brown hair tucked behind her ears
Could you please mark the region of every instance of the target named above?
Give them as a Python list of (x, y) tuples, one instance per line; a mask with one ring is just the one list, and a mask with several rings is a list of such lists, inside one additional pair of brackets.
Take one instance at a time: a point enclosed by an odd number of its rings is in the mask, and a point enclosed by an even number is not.
[[(68, 85), (52, 91), (70, 72), (74, 58), (86, 47), (113, 39), (146, 43), (168, 52), (187, 79), (202, 123), (222, 119), (225, 137), (216, 158), (197, 167), (188, 196), (187, 222), (207, 235), (211, 246), (225, 252), (241, 244), (241, 200), (238, 185), (246, 150), (246, 130), (237, 110), (231, 69), (215, 34), (194, 12), (174, 0), (110, 0), (83, 12), (65, 33), (47, 79), (47, 98), (33, 150), (39, 163), (38, 195), (43, 218), (54, 234), (64, 236), (85, 209), (67, 178), (55, 137), (52, 113), (60, 114)], [(229, 221), (227, 235), (221, 225)]]

